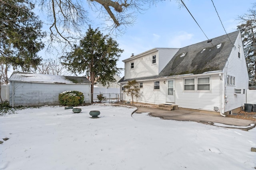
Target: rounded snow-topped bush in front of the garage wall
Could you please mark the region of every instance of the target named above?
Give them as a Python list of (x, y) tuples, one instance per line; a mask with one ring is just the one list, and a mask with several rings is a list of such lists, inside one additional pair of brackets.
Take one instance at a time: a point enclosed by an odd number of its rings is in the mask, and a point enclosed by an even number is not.
[(59, 94), (59, 102), (62, 106), (79, 106), (84, 101), (84, 94), (78, 91), (65, 91)]

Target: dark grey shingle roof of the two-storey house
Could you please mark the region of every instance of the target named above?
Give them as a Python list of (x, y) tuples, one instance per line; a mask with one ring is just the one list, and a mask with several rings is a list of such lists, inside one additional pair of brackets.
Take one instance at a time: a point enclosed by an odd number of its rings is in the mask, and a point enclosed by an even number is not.
[[(202, 41), (181, 48), (172, 57), (170, 62), (157, 76), (136, 78), (136, 80), (149, 80), (154, 78), (176, 76), (182, 74), (202, 74), (204, 72), (222, 71), (234, 47), (239, 31), (213, 38), (211, 42)], [(128, 82), (134, 79), (124, 77), (119, 82)]]

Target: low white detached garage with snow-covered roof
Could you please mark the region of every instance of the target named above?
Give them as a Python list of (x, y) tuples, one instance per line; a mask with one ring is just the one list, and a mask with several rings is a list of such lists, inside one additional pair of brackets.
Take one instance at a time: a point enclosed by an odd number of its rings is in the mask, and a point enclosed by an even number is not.
[(91, 82), (86, 77), (13, 72), (9, 80), (12, 107), (58, 105), (59, 94), (67, 90), (82, 92), (84, 102), (91, 103)]

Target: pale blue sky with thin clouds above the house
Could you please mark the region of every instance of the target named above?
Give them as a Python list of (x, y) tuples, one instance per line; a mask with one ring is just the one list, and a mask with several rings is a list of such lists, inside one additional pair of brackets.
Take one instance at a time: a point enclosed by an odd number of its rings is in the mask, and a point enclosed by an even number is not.
[[(247, 13), (256, 1), (213, 0), (213, 2), (227, 33), (230, 33), (236, 31), (236, 26), (240, 24), (237, 20), (238, 16)], [(87, 2), (84, 3), (87, 5)], [(225, 34), (211, 0), (184, 0), (184, 3), (209, 39)], [(41, 12), (37, 15), (44, 17)], [(96, 17), (97, 13), (89, 12), (89, 18), (94, 21), (92, 23), (94, 29), (100, 27), (97, 23), (101, 22)], [(49, 25), (44, 25), (46, 31), (49, 31), (48, 28)], [(159, 2), (146, 10), (144, 14), (138, 14), (134, 25), (127, 27), (122, 36), (116, 37), (120, 49), (124, 49), (117, 66), (124, 68), (122, 60), (129, 58), (132, 53), (138, 55), (155, 47), (181, 48), (205, 41), (207, 38), (204, 33), (186, 8), (179, 8), (176, 0)], [(39, 55), (43, 58), (53, 56), (44, 52), (40, 52)], [(124, 71), (120, 76), (124, 76)]]

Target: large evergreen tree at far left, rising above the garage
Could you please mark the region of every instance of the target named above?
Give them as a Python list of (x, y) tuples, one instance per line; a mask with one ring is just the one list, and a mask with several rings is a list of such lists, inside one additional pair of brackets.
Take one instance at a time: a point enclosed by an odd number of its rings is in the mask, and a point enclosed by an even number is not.
[(44, 44), (42, 22), (28, 0), (0, 0), (0, 60), (28, 71), (41, 61), (37, 53)]

